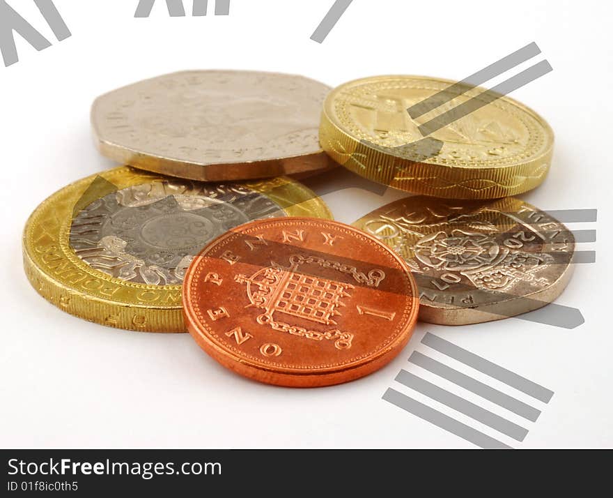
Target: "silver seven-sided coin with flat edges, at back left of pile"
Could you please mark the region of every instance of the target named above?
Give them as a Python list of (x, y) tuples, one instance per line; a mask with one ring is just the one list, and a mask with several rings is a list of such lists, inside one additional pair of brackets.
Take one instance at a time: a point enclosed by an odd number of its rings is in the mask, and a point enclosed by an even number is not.
[(142, 169), (207, 181), (263, 178), (329, 165), (318, 139), (329, 90), (298, 75), (186, 71), (100, 96), (92, 123), (104, 155)]

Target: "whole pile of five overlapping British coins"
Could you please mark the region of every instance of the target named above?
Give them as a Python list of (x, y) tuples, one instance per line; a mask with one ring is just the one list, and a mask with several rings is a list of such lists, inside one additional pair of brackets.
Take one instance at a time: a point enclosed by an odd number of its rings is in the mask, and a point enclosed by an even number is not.
[[(261, 382), (362, 377), (401, 351), (418, 312), (448, 325), (512, 317), (571, 277), (572, 233), (510, 197), (545, 179), (552, 130), (506, 96), (428, 77), (332, 90), (204, 70), (107, 93), (92, 124), (100, 152), (127, 166), (32, 213), (31, 284), (92, 322), (187, 330)], [(417, 195), (335, 222), (301, 181), (339, 165)]]

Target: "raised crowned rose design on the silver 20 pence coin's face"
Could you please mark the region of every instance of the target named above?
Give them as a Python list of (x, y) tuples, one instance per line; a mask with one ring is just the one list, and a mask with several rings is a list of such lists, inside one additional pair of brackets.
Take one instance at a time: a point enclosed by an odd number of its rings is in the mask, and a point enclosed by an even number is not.
[[(409, 258), (408, 263), (412, 269), (428, 272), (449, 285), (464, 282), (478, 289), (499, 291), (509, 291), (520, 282), (535, 287), (548, 285), (550, 279), (543, 274), (554, 264), (554, 258), (546, 252), (543, 237), (526, 225), (521, 227), (532, 234), (516, 232), (506, 236), (501, 227), (509, 228), (516, 221), (506, 213), (490, 209), (491, 215), (508, 218), (502, 225), (500, 220), (493, 224), (483, 218), (486, 211), (487, 208), (463, 212), (453, 204), (441, 203), (436, 212), (424, 209), (421, 213), (412, 211), (401, 216), (384, 214), (380, 220), (369, 221), (366, 229), (380, 234), (378, 229), (373, 231), (373, 225), (393, 226), (392, 233), (395, 232), (398, 239), (396, 249), (409, 247), (408, 239), (417, 237), (411, 243), (414, 257)], [(440, 221), (432, 222), (433, 218)], [(423, 233), (424, 229), (436, 227), (444, 230)], [(474, 230), (467, 230), (467, 227), (474, 227)], [(502, 239), (500, 234), (503, 234)], [(525, 242), (531, 244), (526, 246)]]

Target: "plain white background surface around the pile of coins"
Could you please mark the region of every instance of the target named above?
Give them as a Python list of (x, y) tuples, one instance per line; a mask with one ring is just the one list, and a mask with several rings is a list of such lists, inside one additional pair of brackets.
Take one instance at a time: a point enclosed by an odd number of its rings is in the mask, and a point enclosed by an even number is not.
[[(229, 17), (213, 16), (211, 0), (210, 14), (194, 18), (170, 18), (160, 1), (150, 18), (134, 19), (137, 0), (56, 0), (72, 31), (58, 43), (31, 1), (9, 0), (54, 46), (36, 52), (17, 37), (20, 62), (0, 66), (0, 446), (472, 448), (381, 400), (388, 386), (424, 400), (394, 377), (406, 368), (428, 378), (407, 362), (414, 349), (426, 352), (419, 344), (426, 331), (554, 391), (548, 405), (531, 401), (543, 414), (522, 421), (530, 430), (524, 442), (497, 435), (501, 441), (613, 446), (610, 2), (355, 0), (319, 45), (309, 36), (332, 0), (232, 0)], [(398, 358), (375, 374), (295, 390), (233, 375), (187, 334), (118, 331), (67, 315), (24, 276), (21, 234), (31, 211), (113, 165), (90, 135), (89, 107), (100, 93), (192, 68), (298, 73), (332, 86), (387, 73), (459, 80), (531, 41), (543, 50), (531, 63), (546, 58), (554, 71), (513, 96), (548, 119), (557, 143), (549, 178), (523, 198), (541, 209), (599, 211), (598, 262), (577, 267), (557, 301), (582, 310), (586, 321), (575, 330), (519, 319), (419, 324)], [(352, 222), (398, 197), (345, 190), (325, 201), (336, 219)]]

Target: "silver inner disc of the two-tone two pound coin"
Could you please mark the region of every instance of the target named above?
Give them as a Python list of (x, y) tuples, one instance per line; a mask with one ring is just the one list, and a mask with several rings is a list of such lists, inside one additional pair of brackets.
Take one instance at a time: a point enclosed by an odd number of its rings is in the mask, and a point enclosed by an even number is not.
[(178, 285), (208, 241), (249, 220), (279, 216), (285, 213), (271, 199), (240, 185), (142, 183), (79, 212), (70, 246), (87, 264), (115, 278)]

